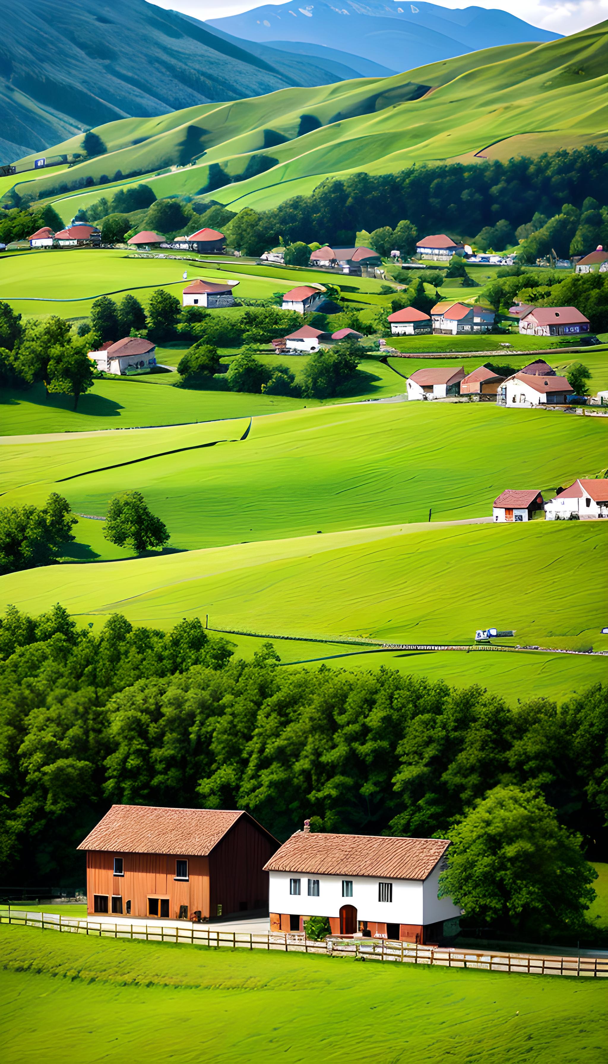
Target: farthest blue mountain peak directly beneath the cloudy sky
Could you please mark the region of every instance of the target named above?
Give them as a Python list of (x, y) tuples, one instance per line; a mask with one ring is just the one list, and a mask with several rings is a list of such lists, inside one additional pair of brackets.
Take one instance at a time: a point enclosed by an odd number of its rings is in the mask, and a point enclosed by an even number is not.
[(402, 0), (343, 0), (341, 7), (325, 0), (301, 7), (266, 4), (242, 15), (209, 19), (207, 24), (275, 47), (279, 41), (297, 41), (339, 48), (396, 71), (481, 48), (557, 40), (560, 36), (529, 26), (506, 11), (451, 11), (433, 3)]

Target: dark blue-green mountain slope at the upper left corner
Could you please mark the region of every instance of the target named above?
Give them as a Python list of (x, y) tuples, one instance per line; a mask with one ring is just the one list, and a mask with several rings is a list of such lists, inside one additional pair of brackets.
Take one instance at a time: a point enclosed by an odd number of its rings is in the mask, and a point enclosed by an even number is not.
[(0, 0), (0, 163), (118, 118), (359, 76), (146, 0)]

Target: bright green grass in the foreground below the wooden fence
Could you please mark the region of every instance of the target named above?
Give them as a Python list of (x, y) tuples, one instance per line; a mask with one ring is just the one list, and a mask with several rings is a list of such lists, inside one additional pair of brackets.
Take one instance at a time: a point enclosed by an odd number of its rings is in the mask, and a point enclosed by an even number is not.
[[(605, 1060), (599, 980), (0, 928), (5, 1064)], [(59, 1036), (61, 1032), (61, 1036)], [(170, 1034), (169, 1034), (170, 1032)], [(169, 1047), (167, 1047), (167, 1041)]]

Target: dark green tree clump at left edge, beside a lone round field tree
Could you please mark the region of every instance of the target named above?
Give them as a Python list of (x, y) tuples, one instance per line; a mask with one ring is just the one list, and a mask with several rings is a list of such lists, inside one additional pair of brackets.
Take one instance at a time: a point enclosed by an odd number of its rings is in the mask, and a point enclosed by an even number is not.
[(69, 503), (54, 492), (45, 506), (0, 509), (0, 572), (56, 562), (60, 548), (73, 541), (76, 523)]

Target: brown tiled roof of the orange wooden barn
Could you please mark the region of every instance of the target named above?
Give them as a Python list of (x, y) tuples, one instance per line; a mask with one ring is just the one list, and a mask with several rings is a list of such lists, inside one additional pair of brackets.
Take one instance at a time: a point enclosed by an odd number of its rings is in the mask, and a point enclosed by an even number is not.
[[(207, 857), (242, 816), (248, 814), (242, 810), (113, 805), (77, 849)], [(264, 828), (260, 830), (273, 837)]]

